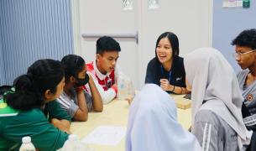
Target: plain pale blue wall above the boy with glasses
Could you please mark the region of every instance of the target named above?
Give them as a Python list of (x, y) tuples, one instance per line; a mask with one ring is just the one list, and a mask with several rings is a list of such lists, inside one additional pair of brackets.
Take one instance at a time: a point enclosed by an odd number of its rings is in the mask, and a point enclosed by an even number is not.
[(212, 45), (222, 52), (235, 71), (241, 68), (232, 57), (235, 49), (231, 41), (244, 29), (255, 29), (256, 25), (256, 2), (250, 3), (250, 8), (222, 8), (222, 1), (214, 1), (213, 5)]

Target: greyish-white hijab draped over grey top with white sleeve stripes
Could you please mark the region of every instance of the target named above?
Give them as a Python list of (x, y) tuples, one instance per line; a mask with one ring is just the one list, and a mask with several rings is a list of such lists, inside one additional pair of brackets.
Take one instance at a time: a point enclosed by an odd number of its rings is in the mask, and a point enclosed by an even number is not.
[[(244, 126), (242, 117), (243, 96), (231, 65), (217, 50), (196, 49), (184, 58), (186, 79), (192, 86), (192, 124), (196, 112), (207, 109), (238, 133), (238, 145), (249, 144), (252, 136)], [(202, 102), (206, 103), (202, 106)]]

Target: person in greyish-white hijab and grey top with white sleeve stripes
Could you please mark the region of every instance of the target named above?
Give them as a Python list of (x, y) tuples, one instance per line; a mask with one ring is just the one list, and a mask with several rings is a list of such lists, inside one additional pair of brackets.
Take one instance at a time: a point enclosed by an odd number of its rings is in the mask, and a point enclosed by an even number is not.
[(244, 150), (252, 132), (243, 123), (243, 96), (231, 65), (212, 48), (196, 49), (184, 62), (191, 86), (192, 133), (202, 150)]

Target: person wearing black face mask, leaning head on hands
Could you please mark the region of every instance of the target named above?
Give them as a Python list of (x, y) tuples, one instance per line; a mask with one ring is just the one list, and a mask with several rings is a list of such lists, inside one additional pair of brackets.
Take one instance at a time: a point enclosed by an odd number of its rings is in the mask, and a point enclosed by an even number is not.
[[(79, 55), (65, 55), (61, 60), (65, 70), (64, 91), (57, 99), (73, 120), (87, 121), (88, 112), (102, 112), (102, 97), (91, 76), (86, 74), (86, 62)], [(88, 83), (91, 96), (82, 86)]]

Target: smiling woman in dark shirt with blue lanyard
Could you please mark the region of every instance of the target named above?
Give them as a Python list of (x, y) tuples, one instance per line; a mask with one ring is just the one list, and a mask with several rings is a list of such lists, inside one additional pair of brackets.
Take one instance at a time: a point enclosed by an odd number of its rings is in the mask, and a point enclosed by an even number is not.
[(155, 57), (149, 61), (145, 83), (154, 83), (164, 91), (186, 94), (183, 58), (179, 56), (179, 39), (170, 32), (156, 41)]

